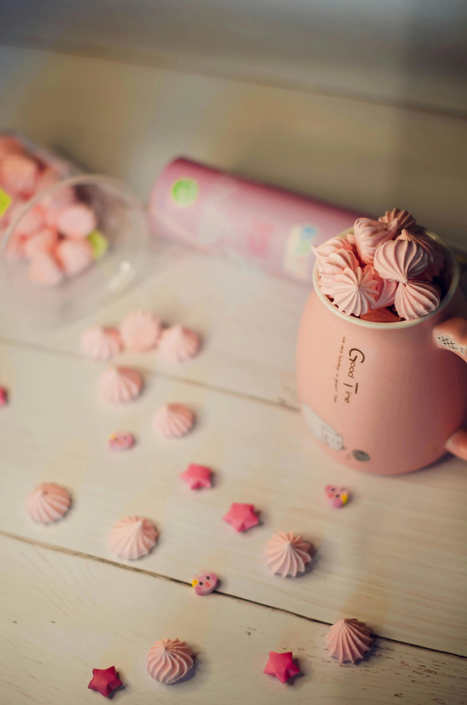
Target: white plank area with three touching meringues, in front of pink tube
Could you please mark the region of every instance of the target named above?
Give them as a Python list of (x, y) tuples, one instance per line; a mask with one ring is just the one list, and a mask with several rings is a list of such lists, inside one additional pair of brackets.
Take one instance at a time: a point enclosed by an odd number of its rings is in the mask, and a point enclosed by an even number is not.
[(157, 352), (125, 353), (119, 361), (297, 405), (296, 337), (307, 287), (166, 243), (153, 244), (145, 266), (151, 276), (140, 286), (97, 315), (62, 328), (41, 328), (9, 303), (1, 306), (0, 338), (82, 355), (80, 333), (87, 325), (119, 324), (126, 313), (143, 307), (167, 324), (201, 333), (202, 355), (183, 365), (164, 362)]

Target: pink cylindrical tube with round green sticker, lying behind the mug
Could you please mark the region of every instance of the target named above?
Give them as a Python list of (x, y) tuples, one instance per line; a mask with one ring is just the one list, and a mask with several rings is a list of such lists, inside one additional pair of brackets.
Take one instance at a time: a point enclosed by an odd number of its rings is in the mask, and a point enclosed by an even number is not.
[(313, 286), (321, 245), (361, 214), (176, 159), (150, 196), (157, 235)]

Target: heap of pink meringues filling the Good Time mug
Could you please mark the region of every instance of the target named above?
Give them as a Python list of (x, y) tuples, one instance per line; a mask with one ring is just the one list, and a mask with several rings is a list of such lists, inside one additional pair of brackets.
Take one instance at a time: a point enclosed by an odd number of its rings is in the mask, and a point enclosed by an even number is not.
[(348, 316), (411, 321), (437, 309), (445, 293), (442, 245), (405, 210), (359, 218), (347, 238), (311, 249), (322, 293)]

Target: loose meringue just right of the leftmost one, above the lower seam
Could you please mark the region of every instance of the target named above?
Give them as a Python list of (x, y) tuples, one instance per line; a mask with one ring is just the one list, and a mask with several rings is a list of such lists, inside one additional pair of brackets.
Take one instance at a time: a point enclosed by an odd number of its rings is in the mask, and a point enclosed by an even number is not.
[(135, 560), (146, 556), (156, 545), (157, 531), (148, 519), (125, 517), (110, 530), (109, 548), (119, 558)]

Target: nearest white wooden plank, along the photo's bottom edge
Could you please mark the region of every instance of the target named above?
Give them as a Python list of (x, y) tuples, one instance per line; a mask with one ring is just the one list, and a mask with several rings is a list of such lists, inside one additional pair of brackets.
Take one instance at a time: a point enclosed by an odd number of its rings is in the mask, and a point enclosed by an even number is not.
[[(463, 705), (466, 661), (377, 639), (356, 666), (323, 648), (329, 627), (219, 594), (0, 537), (2, 705), (85, 705), (92, 668), (115, 666), (112, 702), (138, 705)], [(195, 651), (193, 678), (161, 685), (149, 646), (178, 637)], [(303, 675), (262, 673), (269, 651), (291, 650)]]

